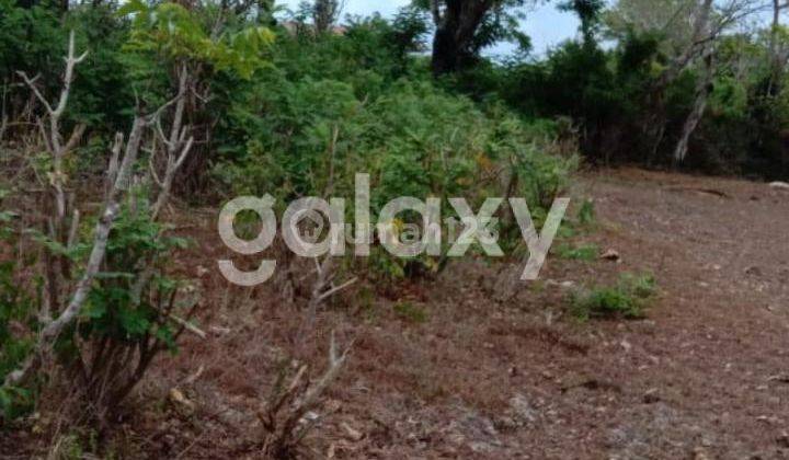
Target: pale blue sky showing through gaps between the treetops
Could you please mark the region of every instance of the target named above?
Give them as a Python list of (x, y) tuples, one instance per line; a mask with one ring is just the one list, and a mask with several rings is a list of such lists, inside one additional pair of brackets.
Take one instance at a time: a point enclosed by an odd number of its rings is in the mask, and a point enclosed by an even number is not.
[[(299, 0), (281, 0), (279, 4), (296, 9)], [(345, 14), (369, 15), (379, 12), (385, 18), (391, 18), (400, 7), (410, 3), (410, 0), (346, 0)], [(556, 5), (548, 4), (527, 10), (527, 19), (522, 23), (522, 30), (531, 37), (533, 50), (542, 55), (547, 49), (561, 42), (572, 38), (578, 33), (579, 22), (572, 13), (557, 11)], [(512, 44), (499, 44), (488, 49), (488, 55), (507, 55), (514, 50)]]

